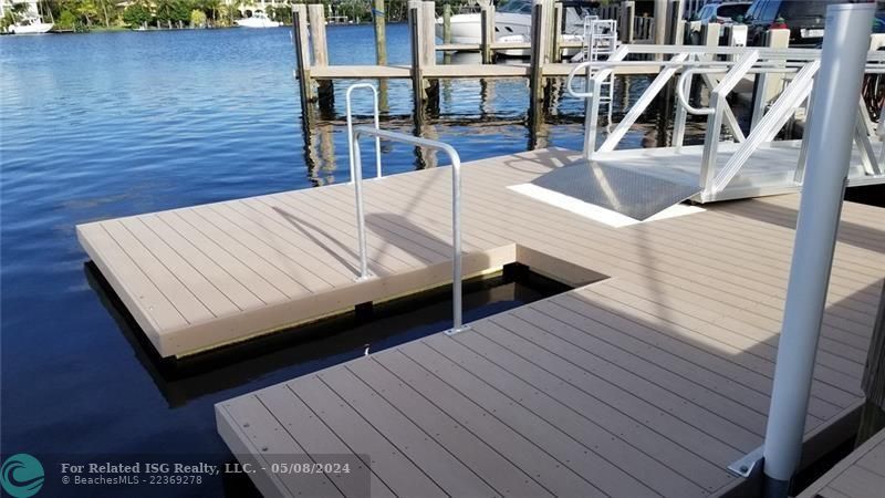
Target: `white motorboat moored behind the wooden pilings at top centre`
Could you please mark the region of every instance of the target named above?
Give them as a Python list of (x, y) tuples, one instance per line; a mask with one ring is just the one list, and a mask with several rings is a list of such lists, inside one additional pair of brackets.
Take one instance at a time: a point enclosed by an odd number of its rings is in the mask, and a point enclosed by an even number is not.
[[(450, 20), (451, 43), (480, 43), (482, 21), (479, 12), (452, 15)], [(531, 41), (532, 0), (500, 0), (494, 7), (494, 39), (506, 43)], [(566, 10), (563, 40), (580, 41), (583, 39), (583, 14), (573, 8)], [(436, 20), (436, 35), (442, 38), (442, 19)], [(565, 51), (565, 55), (576, 53), (579, 49)], [(529, 56), (529, 49), (511, 49), (498, 52), (509, 56)]]

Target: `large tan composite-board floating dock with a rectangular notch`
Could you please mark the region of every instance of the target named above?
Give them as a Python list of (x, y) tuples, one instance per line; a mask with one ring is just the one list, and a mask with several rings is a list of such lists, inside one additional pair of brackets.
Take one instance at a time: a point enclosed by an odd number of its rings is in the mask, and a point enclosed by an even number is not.
[[(304, 461), (352, 454), (378, 496), (691, 497), (733, 484), (727, 466), (762, 439), (799, 196), (612, 228), (507, 188), (574, 157), (464, 165), (466, 268), (532, 253), (554, 278), (583, 268), (607, 279), (220, 403), (231, 448), (257, 460), (271, 447)], [(377, 276), (365, 282), (355, 281), (352, 185), (97, 221), (79, 235), (162, 353), (188, 353), (223, 333), (219, 343), (446, 283), (450, 180), (435, 168), (364, 184)], [(806, 430), (861, 398), (885, 276), (882, 214), (843, 207)], [(325, 478), (311, 489), (360, 494)], [(258, 479), (283, 495), (301, 486)]]

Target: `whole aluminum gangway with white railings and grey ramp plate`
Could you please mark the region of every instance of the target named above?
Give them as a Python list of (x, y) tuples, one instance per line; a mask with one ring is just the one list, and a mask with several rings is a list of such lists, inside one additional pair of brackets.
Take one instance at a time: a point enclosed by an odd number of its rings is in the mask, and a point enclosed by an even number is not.
[[(628, 60), (633, 55), (639, 60)], [(605, 61), (579, 64), (568, 79), (568, 92), (586, 100), (583, 160), (558, 168), (534, 183), (635, 219), (645, 219), (686, 199), (710, 203), (799, 191), (808, 135), (800, 141), (780, 139), (778, 135), (799, 110), (810, 107), (820, 58), (816, 49), (621, 45)], [(659, 61), (658, 74), (625, 110), (623, 120), (611, 132), (601, 132), (597, 123), (601, 106), (605, 105), (604, 83), (615, 69), (648, 64), (648, 59)], [(885, 72), (885, 53), (870, 52), (865, 72)], [(574, 80), (587, 74), (585, 89), (577, 90)], [(749, 120), (754, 124), (746, 131), (729, 96), (739, 83), (746, 86), (752, 79), (760, 96), (772, 80), (782, 81), (783, 90), (768, 105), (762, 105), (763, 98), (757, 100), (757, 116)], [(698, 92), (706, 95), (706, 106), (689, 98), (696, 80), (707, 87), (706, 93)], [(676, 95), (673, 145), (620, 149), (637, 120), (670, 83)], [(879, 133), (885, 126), (873, 122), (860, 95), (845, 95), (845, 102), (857, 103), (847, 185), (883, 184), (885, 148)], [(689, 115), (706, 116), (702, 144), (685, 144)], [(814, 116), (805, 118), (810, 123)]]

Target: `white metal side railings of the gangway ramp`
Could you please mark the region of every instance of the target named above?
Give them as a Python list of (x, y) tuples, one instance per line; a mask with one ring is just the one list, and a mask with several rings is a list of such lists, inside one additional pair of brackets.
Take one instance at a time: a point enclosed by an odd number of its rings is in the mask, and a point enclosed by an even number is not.
[[(626, 112), (624, 118), (596, 147), (597, 120), (600, 105), (604, 95), (601, 93), (602, 82), (617, 68), (647, 65), (647, 61), (625, 61), (629, 54), (669, 55), (669, 60), (660, 65), (657, 76)], [(726, 60), (717, 60), (723, 56)], [(778, 132), (794, 115), (803, 102), (808, 101), (813, 89), (814, 76), (820, 68), (820, 51), (814, 49), (769, 49), (739, 46), (690, 46), (690, 45), (622, 45), (607, 61), (587, 61), (575, 66), (566, 80), (568, 92), (575, 97), (587, 100), (586, 125), (584, 131), (584, 157), (592, 159), (594, 154), (614, 151), (639, 116), (655, 101), (669, 81), (679, 74), (676, 85), (676, 120), (673, 145), (677, 152), (683, 146), (687, 114), (707, 115), (707, 129), (699, 170), (701, 200), (711, 200), (721, 193), (738, 175), (749, 157), (766, 143), (774, 139)], [(871, 52), (866, 73), (885, 72), (885, 53)], [(726, 97), (747, 75), (766, 75), (780, 73), (789, 77), (780, 95), (777, 96), (764, 116), (753, 125), (745, 137)], [(575, 76), (587, 76), (589, 91), (573, 87)], [(707, 107), (697, 108), (689, 104), (691, 80), (695, 75), (702, 79), (710, 89)], [(719, 80), (717, 81), (717, 77)], [(811, 116), (808, 116), (811, 120)], [(721, 127), (726, 125), (735, 142), (740, 143), (721, 170), (717, 172), (718, 148)], [(864, 170), (870, 176), (883, 175), (883, 157), (876, 157), (871, 136), (874, 124), (868, 117), (865, 106), (858, 108), (855, 142), (861, 149)], [(804, 167), (803, 141), (795, 170), (795, 181), (801, 183)]]

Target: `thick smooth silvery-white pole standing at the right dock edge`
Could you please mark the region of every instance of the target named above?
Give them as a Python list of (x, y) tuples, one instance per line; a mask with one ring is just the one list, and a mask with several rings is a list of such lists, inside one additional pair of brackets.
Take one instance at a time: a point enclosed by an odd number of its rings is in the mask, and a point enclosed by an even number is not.
[(814, 120), (764, 443), (766, 496), (787, 497), (799, 465), (875, 3), (826, 10)]

